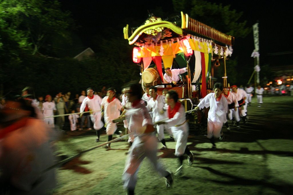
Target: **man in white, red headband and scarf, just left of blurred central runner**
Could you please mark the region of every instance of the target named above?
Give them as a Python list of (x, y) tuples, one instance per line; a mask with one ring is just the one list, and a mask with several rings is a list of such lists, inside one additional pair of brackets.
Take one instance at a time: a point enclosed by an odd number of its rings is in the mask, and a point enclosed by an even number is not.
[[(122, 109), (121, 102), (115, 97), (115, 94), (116, 90), (113, 87), (109, 88), (107, 90), (107, 96), (103, 98), (101, 104), (102, 110), (104, 111), (104, 121), (108, 141), (112, 140), (113, 134), (117, 130), (117, 125), (116, 123), (113, 123), (113, 120), (120, 116), (120, 111)], [(105, 147), (110, 149), (110, 144), (107, 144)]]

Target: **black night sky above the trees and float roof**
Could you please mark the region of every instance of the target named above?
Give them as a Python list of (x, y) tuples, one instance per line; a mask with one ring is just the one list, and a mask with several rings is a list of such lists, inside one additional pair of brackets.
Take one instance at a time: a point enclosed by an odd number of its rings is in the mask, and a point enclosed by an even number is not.
[[(71, 11), (76, 24), (81, 26), (76, 32), (83, 46), (91, 47), (93, 36), (99, 34), (105, 27), (113, 27), (121, 32), (123, 39), (123, 27), (131, 22), (132, 18), (141, 19), (141, 23), (148, 17), (148, 10), (161, 6), (163, 11), (172, 7), (171, 0), (165, 1), (80, 1), (60, 0), (64, 10)], [(102, 2), (102, 3), (101, 3)], [(219, 3), (221, 1), (212, 1)], [(230, 1), (225, 0), (223, 5), (231, 5), (231, 9), (237, 12), (243, 11), (243, 20), (247, 20), (247, 26), (252, 27), (259, 21), (260, 31), (260, 65), (291, 65), (292, 54), (274, 55), (272, 53), (292, 51), (292, 8), (287, 1)], [(174, 13), (180, 15), (180, 13)], [(158, 16), (160, 17), (160, 16)], [(196, 18), (194, 18), (196, 19)], [(128, 44), (125, 40), (125, 44)], [(234, 56), (239, 56), (239, 64), (253, 63), (250, 57), (253, 49), (253, 33), (245, 39), (236, 39), (233, 46)], [(233, 55), (233, 54), (232, 54)], [(130, 56), (131, 58), (131, 56)]]

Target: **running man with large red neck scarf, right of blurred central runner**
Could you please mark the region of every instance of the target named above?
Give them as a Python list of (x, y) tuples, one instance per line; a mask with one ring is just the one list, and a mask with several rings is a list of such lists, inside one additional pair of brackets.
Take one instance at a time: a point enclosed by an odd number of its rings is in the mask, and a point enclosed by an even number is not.
[(164, 122), (158, 122), (160, 124), (166, 124), (168, 128), (171, 128), (174, 140), (176, 141), (175, 156), (179, 160), (179, 168), (176, 170), (175, 175), (183, 175), (183, 155), (187, 154), (187, 160), (189, 165), (194, 160), (193, 153), (187, 147), (187, 138), (189, 134), (188, 122), (186, 120), (186, 114), (184, 112), (184, 106), (178, 102), (178, 94), (174, 90), (170, 90), (166, 94), (165, 101), (167, 103), (168, 120)]

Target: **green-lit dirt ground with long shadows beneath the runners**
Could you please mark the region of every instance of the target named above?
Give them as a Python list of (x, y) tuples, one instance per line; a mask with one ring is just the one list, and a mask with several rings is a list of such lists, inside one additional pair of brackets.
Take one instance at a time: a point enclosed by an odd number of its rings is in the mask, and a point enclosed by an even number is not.
[[(262, 107), (256, 98), (248, 107), (249, 121), (241, 129), (223, 127), (225, 140), (210, 150), (206, 130), (190, 130), (188, 147), (195, 155), (191, 166), (185, 158), (183, 177), (175, 177), (171, 189), (145, 159), (140, 167), (136, 194), (292, 194), (293, 191), (293, 97), (264, 97)], [(231, 123), (230, 123), (231, 124)], [(94, 130), (67, 131), (67, 141), (57, 142), (58, 155), (74, 156), (99, 143)], [(178, 168), (175, 142), (167, 139), (168, 149), (158, 150), (158, 158), (173, 172)], [(158, 149), (160, 144), (158, 144)], [(127, 142), (111, 144), (84, 153), (56, 170), (57, 188), (53, 194), (126, 194), (121, 175), (125, 165)]]

